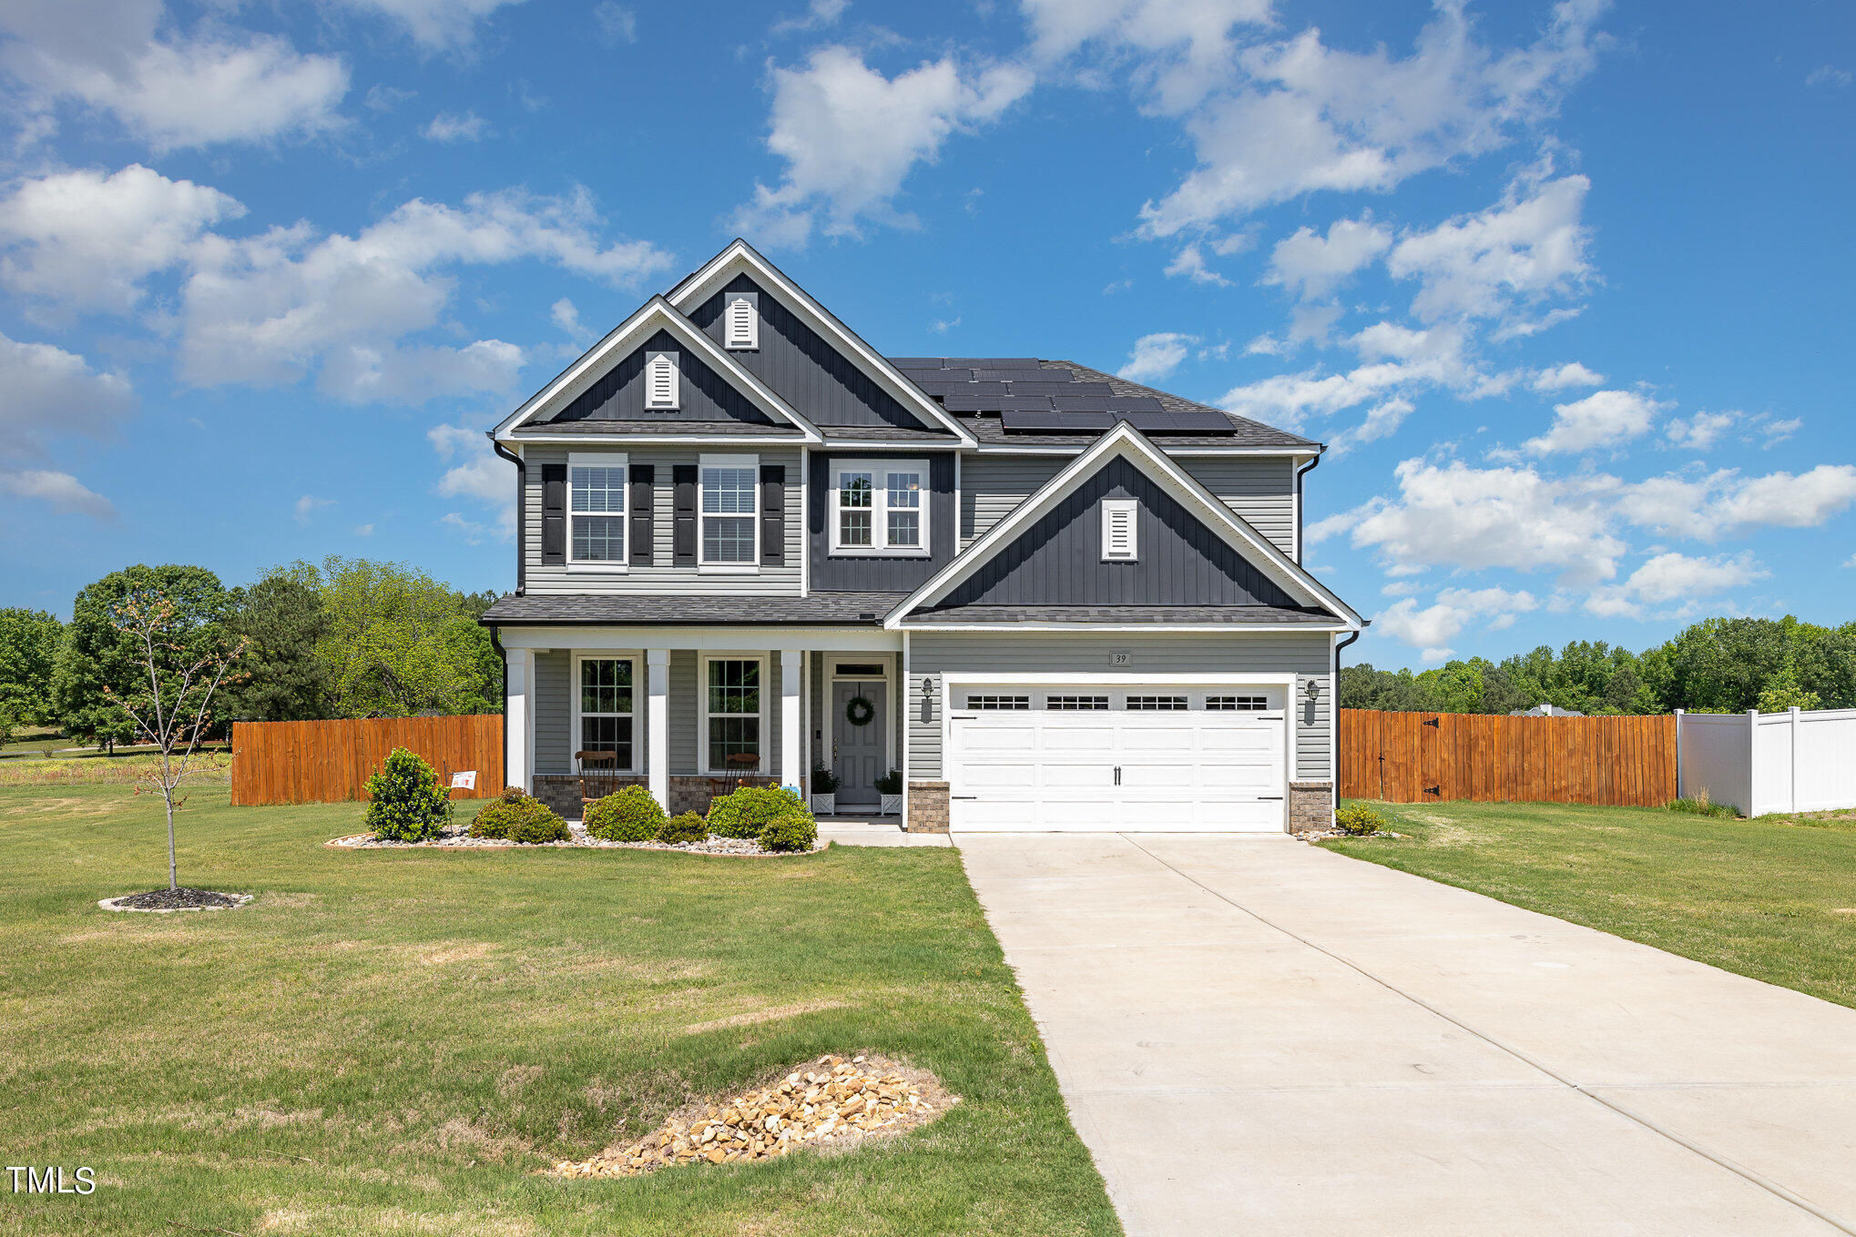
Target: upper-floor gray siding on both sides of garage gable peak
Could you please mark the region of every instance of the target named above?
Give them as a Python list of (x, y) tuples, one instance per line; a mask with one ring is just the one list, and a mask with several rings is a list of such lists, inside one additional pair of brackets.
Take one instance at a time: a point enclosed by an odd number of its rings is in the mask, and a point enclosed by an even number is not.
[[(1284, 555), (1295, 553), (1295, 471), (1290, 456), (1173, 456), (1201, 486)], [(1050, 480), (1071, 456), (965, 454), (960, 460), (960, 547), (967, 549)]]

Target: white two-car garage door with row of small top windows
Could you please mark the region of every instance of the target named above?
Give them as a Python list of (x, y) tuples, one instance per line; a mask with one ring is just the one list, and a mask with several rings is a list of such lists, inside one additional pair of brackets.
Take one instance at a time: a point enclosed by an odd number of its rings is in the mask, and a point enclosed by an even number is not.
[(956, 831), (1281, 833), (1284, 688), (950, 690)]

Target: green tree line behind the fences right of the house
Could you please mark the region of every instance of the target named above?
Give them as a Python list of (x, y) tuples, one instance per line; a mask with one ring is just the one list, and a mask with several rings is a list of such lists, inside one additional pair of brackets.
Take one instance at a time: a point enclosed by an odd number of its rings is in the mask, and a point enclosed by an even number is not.
[(1540, 645), (1500, 662), (1455, 660), (1424, 673), (1342, 666), (1342, 708), (1507, 714), (1535, 705), (1583, 714), (1856, 708), (1856, 623), (1715, 618), (1631, 653), (1602, 640)]

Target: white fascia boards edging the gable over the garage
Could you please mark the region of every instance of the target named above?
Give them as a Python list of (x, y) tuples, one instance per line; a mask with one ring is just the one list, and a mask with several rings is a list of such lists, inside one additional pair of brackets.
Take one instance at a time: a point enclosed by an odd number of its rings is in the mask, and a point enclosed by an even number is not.
[(1056, 477), (1047, 480), (1041, 490), (1019, 503), (1010, 516), (987, 529), (982, 538), (956, 555), (952, 562), (941, 567), (941, 571), (930, 577), (928, 582), (909, 593), (902, 605), (891, 610), (883, 619), (883, 625), (900, 627), (902, 618), (911, 610), (945, 597), (956, 584), (973, 575), (973, 571), (986, 564), (993, 555), (1010, 545), (1012, 538), (1015, 538), (1019, 530), (1056, 506), (1071, 486), (1091, 477), (1095, 469), (1108, 462), (1110, 456), (1127, 456), (1130, 460), (1145, 462), (1151, 467), (1153, 480), (1162, 490), (1167, 490), (1188, 508), (1197, 508), (1199, 517), (1214, 532), (1221, 532), (1225, 540), (1240, 551), (1249, 551), (1247, 556), (1251, 562), (1290, 593), (1301, 593), (1303, 597), (1331, 608), (1346, 621), (1349, 631), (1366, 625), (1353, 606), (1344, 603), (1320, 580), (1303, 571), (1288, 555), (1279, 551), (1266, 536), (1257, 532), (1257, 529), (1253, 529), (1245, 519), (1225, 506), (1210, 490), (1201, 486), (1190, 473), (1169, 460), (1164, 451), (1154, 447), (1145, 434), (1136, 430), (1127, 421), (1121, 421), (1115, 428), (1097, 438), (1088, 451), (1058, 469)]

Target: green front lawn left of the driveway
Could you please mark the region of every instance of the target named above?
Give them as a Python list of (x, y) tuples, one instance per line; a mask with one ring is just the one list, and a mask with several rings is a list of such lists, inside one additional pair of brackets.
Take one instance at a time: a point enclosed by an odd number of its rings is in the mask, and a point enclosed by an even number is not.
[[(0, 786), (0, 1233), (1119, 1233), (956, 851), (330, 851), (356, 805), (180, 818)], [(715, 1026), (731, 1020), (731, 1026)], [(880, 1050), (960, 1096), (844, 1155), (536, 1176), (692, 1094)]]

